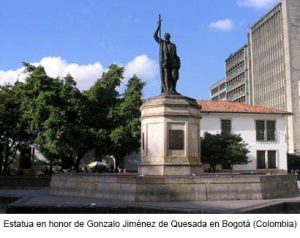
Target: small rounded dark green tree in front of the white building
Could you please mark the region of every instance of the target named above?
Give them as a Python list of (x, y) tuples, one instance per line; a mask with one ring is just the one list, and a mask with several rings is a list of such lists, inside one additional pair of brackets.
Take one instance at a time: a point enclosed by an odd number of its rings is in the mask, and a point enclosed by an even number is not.
[(216, 171), (216, 165), (232, 168), (235, 164), (247, 164), (247, 144), (237, 134), (205, 133), (201, 140), (202, 162), (208, 163), (212, 171)]

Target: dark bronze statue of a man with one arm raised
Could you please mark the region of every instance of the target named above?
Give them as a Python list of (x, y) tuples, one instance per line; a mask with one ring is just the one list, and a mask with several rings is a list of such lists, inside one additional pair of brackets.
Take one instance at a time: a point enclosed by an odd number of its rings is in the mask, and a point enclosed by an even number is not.
[(177, 56), (176, 45), (170, 41), (171, 35), (165, 33), (165, 39), (160, 38), (161, 20), (154, 32), (154, 39), (159, 44), (159, 64), (161, 75), (161, 93), (178, 94), (176, 83), (179, 77), (180, 58)]

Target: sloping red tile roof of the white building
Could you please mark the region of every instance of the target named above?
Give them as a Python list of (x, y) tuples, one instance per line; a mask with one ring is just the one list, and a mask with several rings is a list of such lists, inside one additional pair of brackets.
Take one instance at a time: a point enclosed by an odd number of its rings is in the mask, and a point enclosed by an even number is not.
[(286, 111), (239, 102), (198, 100), (198, 104), (202, 107), (201, 112), (292, 115)]

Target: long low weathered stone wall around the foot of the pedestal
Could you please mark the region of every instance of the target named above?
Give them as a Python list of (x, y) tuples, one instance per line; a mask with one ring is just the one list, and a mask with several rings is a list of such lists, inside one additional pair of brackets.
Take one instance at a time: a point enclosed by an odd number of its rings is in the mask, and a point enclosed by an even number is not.
[(295, 194), (298, 187), (293, 175), (54, 174), (49, 192), (56, 196), (127, 201), (130, 202), (127, 205), (132, 202), (138, 205), (138, 202), (272, 199)]

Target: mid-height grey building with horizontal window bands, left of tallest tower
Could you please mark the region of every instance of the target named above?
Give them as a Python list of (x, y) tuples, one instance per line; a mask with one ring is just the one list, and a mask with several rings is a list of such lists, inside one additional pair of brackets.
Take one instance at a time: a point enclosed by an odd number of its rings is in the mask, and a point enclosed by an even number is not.
[(250, 103), (248, 46), (244, 45), (226, 60), (226, 99)]

